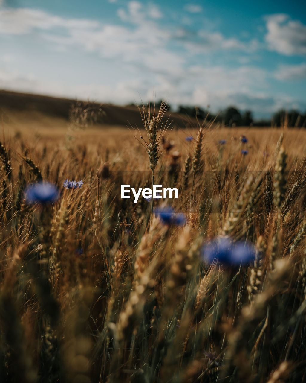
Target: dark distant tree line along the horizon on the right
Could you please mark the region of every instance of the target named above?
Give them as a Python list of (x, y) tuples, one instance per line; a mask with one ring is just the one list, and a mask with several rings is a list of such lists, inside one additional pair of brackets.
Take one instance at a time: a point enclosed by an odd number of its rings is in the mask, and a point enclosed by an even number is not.
[[(169, 103), (166, 103), (163, 100), (159, 100), (155, 102), (155, 108), (158, 109), (161, 106), (162, 102), (166, 104), (166, 110), (168, 111), (172, 110), (171, 105), (169, 105)], [(295, 109), (292, 109), (290, 111), (280, 109), (271, 116), (271, 119), (260, 119), (260, 120), (254, 120), (251, 110), (246, 110), (244, 112), (241, 112), (235, 106), (228, 106), (224, 110), (220, 111), (218, 115), (214, 115), (213, 113), (211, 113), (209, 111), (209, 106), (207, 109), (203, 109), (197, 106), (179, 105), (176, 112), (182, 113), (189, 117), (196, 117), (199, 120), (203, 120), (203, 119), (208, 119), (208, 121), (215, 120), (215, 122), (221, 123), (229, 127), (234, 127), (234, 126), (280, 127), (284, 123), (285, 118), (288, 121), (288, 126), (291, 128), (306, 127), (306, 111), (304, 113), (301, 113), (300, 111)]]

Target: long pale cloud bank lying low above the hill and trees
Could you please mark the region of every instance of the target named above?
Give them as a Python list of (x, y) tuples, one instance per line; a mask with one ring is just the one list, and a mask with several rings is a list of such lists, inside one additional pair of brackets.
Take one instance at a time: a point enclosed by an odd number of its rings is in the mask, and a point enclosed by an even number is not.
[[(168, 99), (173, 106), (183, 104), (205, 108), (210, 104), (212, 112), (216, 113), (231, 104), (240, 110), (250, 109), (255, 116), (269, 116), (282, 107), (290, 109), (297, 102), (288, 95), (269, 95), (268, 87), (265, 89), (267, 74), (254, 67), (228, 70), (223, 66), (197, 65), (183, 72), (170, 73), (171, 69), (148, 77), (145, 72), (136, 72), (129, 79), (111, 85), (105, 85), (102, 79), (80, 85), (47, 77), (41, 79), (0, 67), (0, 88), (115, 104), (125, 104), (135, 98), (140, 102), (138, 93), (144, 101), (150, 100), (153, 91), (158, 99)], [(254, 91), (255, 87), (265, 89), (265, 92)]]

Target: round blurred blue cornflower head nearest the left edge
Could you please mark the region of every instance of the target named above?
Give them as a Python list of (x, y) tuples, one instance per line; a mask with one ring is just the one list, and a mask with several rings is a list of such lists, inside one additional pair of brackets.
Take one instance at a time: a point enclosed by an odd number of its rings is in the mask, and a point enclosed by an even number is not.
[(37, 182), (28, 185), (24, 190), (26, 203), (52, 203), (59, 199), (60, 193), (56, 185), (49, 182)]

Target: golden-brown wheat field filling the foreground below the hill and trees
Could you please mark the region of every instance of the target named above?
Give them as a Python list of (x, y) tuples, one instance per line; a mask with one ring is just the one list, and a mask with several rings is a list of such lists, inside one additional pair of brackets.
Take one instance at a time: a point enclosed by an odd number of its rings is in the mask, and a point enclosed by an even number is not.
[[(306, 381), (305, 131), (141, 111), (139, 129), (3, 127), (0, 381)], [(152, 173), (178, 198), (121, 198)], [(27, 202), (41, 180), (54, 203)], [(220, 237), (255, 259), (203, 258)]]

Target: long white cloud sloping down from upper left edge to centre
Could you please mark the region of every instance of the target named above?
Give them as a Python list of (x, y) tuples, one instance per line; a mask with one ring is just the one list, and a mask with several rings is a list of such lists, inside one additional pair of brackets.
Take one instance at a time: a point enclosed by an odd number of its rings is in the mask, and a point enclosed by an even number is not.
[[(149, 70), (160, 70), (164, 65), (175, 70), (184, 60), (166, 47), (171, 34), (148, 20), (148, 17), (160, 17), (158, 12), (153, 5), (143, 8), (139, 2), (129, 2), (123, 17), (136, 28), (128, 28), (86, 19), (65, 19), (40, 10), (11, 9), (0, 11), (0, 33), (35, 33), (36, 37), (54, 43), (57, 50), (79, 46), (104, 58), (141, 63)], [(60, 27), (61, 34), (56, 27)]]

